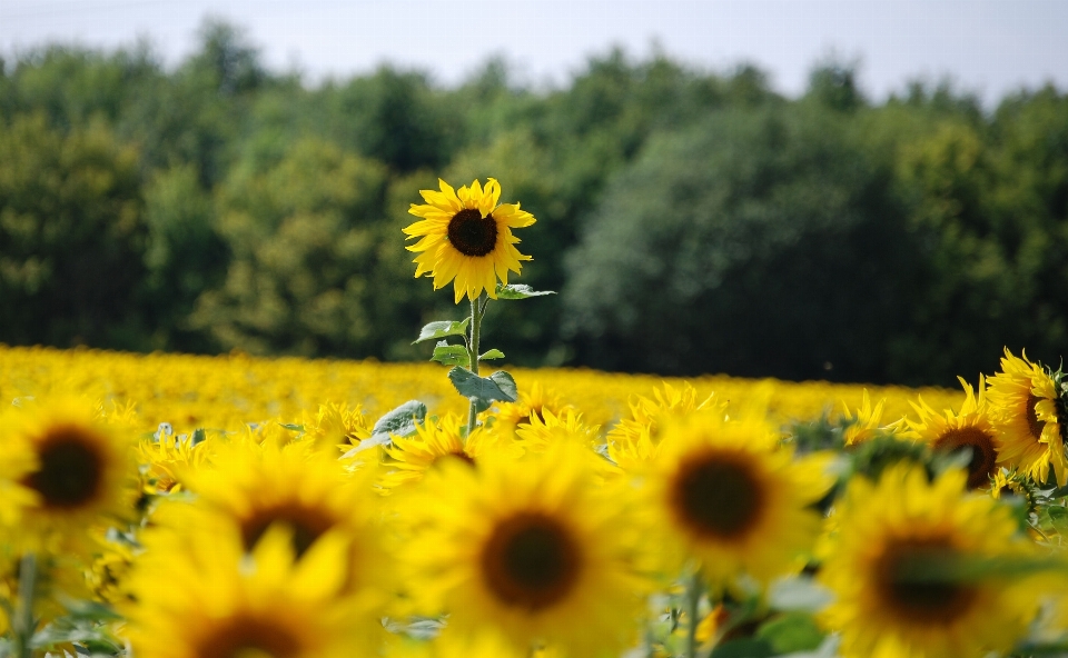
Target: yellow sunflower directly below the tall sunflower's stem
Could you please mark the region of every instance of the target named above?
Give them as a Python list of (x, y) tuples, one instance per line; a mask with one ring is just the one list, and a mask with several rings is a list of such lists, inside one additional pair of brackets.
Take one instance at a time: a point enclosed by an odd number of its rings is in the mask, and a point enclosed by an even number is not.
[[(466, 419), (455, 413), (435, 420), (427, 419), (416, 425), (413, 437), (393, 437), (390, 446), (384, 447), (384, 471), (379, 480), (385, 492), (411, 482), (422, 480), (426, 472), (443, 463), (443, 460), (458, 460), (475, 466), (478, 459), (496, 449), (497, 441), (487, 436), (482, 427), (467, 438), (461, 437)], [(513, 451), (517, 455), (517, 451)]]

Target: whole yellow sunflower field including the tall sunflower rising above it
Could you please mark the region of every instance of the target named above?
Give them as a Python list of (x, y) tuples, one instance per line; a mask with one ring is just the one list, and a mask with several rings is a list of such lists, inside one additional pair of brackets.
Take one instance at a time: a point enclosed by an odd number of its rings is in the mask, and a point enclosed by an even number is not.
[(434, 363), (0, 348), (0, 656), (1068, 652), (1061, 370), (488, 372), (536, 220), (421, 193)]

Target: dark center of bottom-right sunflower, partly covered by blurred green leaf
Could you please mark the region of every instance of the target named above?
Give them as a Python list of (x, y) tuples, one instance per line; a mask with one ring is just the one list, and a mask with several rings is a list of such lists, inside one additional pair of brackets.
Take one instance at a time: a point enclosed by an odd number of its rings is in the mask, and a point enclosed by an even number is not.
[(968, 612), (978, 594), (973, 586), (931, 579), (938, 565), (946, 565), (953, 555), (942, 541), (891, 544), (877, 562), (886, 604), (899, 617), (931, 626), (950, 624)]

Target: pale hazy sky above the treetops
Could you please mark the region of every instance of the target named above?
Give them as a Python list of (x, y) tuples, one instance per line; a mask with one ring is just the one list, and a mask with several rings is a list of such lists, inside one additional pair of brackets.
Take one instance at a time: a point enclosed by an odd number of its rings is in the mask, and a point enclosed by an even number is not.
[(564, 84), (622, 46), (705, 70), (755, 63), (790, 96), (830, 59), (858, 62), (873, 99), (917, 79), (951, 79), (986, 102), (1048, 81), (1068, 90), (1068, 0), (0, 0), (0, 54), (147, 38), (175, 66), (208, 16), (312, 84), (383, 62), (452, 84), (492, 56), (528, 83)]

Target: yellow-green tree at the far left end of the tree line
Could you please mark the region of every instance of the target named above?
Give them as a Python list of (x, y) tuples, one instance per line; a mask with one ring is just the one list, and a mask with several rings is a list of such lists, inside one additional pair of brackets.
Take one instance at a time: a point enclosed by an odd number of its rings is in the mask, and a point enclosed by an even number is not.
[(0, 340), (140, 347), (137, 162), (99, 123), (0, 122)]

